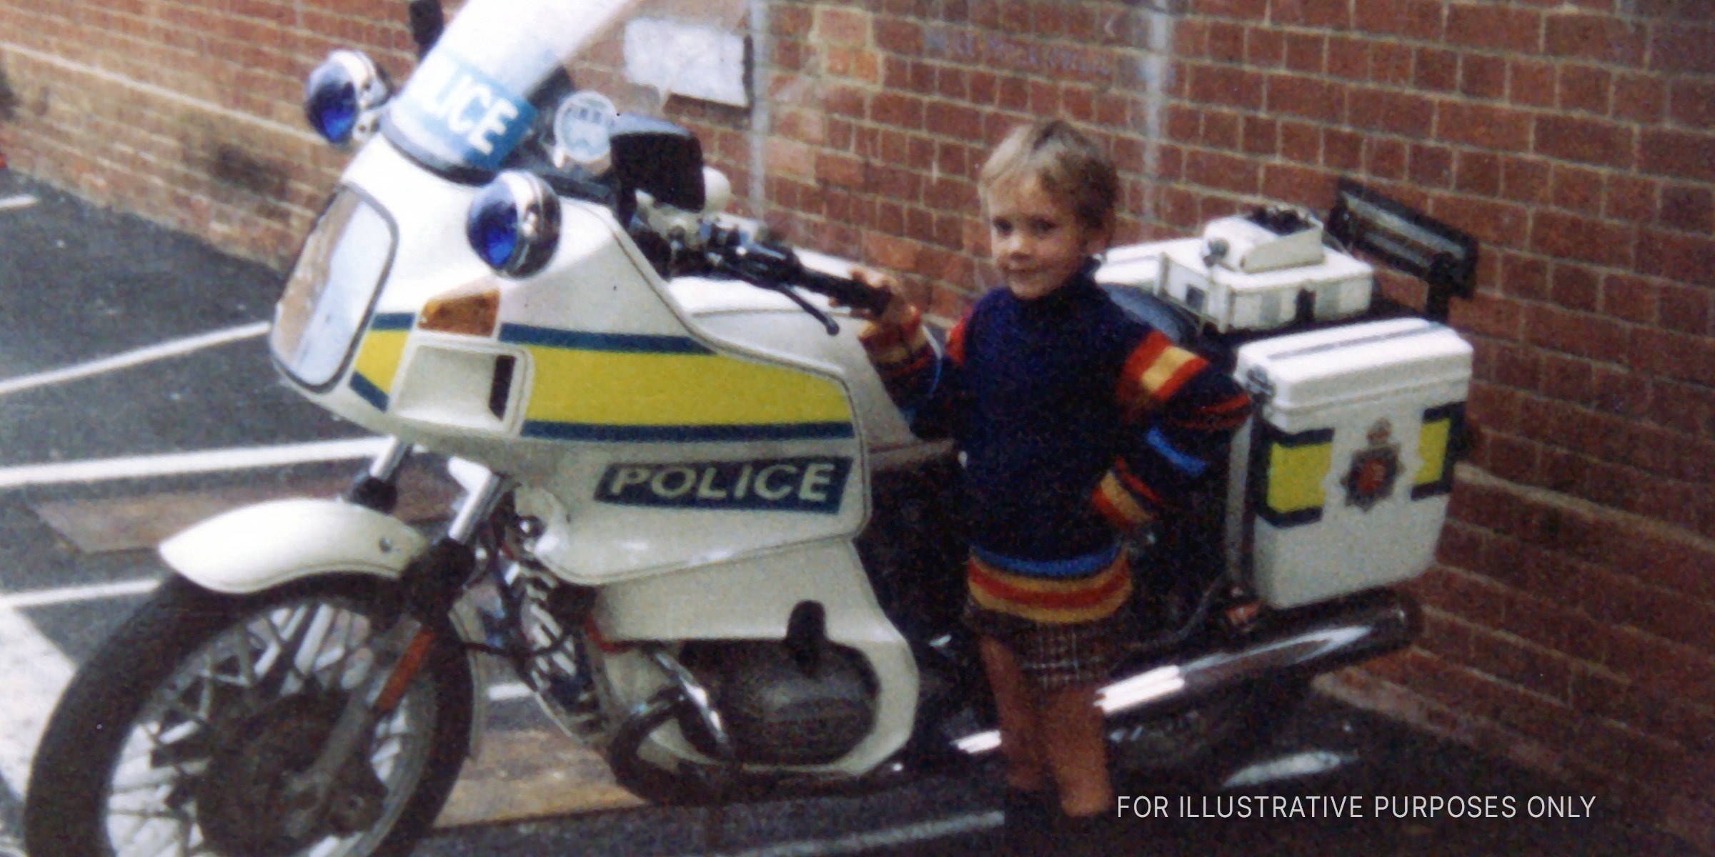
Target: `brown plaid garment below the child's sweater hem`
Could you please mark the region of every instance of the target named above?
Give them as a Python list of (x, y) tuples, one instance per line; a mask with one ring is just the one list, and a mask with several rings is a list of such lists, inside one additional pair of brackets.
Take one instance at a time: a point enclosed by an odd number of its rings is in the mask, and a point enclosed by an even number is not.
[(1099, 684), (1125, 655), (1130, 614), (1116, 614), (1092, 622), (1046, 624), (1017, 615), (984, 610), (966, 596), (962, 622), (978, 636), (993, 638), (1019, 658), (1024, 680), (1039, 694)]

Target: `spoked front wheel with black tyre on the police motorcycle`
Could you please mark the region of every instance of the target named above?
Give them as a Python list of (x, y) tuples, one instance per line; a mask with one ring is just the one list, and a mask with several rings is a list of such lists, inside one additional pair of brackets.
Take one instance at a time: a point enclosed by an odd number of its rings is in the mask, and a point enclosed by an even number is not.
[[(307, 768), (355, 672), (369, 668), (353, 643), (398, 615), (398, 588), (374, 578), (316, 578), (247, 596), (170, 578), (60, 698), (26, 790), (27, 854), (410, 852), (470, 740), (472, 674), (449, 624), (376, 725), (369, 752), (338, 771), (338, 809), (326, 816), (345, 821), (309, 831), (280, 821), (283, 773)], [(348, 809), (353, 802), (362, 809)]]

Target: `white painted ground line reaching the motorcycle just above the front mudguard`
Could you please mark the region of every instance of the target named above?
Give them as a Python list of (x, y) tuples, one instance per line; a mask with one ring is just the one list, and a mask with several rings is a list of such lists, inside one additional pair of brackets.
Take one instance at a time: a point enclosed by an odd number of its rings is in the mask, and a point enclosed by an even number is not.
[(216, 473), (223, 470), (274, 468), (309, 461), (345, 461), (353, 458), (374, 458), (386, 446), (386, 437), (353, 437), (348, 440), (317, 440), (310, 444), (250, 446), (235, 449), (206, 449), (201, 452), (168, 452), (159, 456), (21, 464), (15, 468), (0, 468), (0, 490), (22, 488), (29, 485), (62, 485), (69, 482), (103, 482), (142, 476), (177, 476), (187, 473)]

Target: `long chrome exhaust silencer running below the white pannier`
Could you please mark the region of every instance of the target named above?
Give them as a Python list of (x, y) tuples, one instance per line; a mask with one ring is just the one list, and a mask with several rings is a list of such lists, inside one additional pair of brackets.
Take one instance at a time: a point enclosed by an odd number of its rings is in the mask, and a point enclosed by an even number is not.
[[(1417, 602), (1391, 590), (1264, 614), (1225, 650), (1194, 653), (1188, 662), (1168, 662), (1103, 686), (1096, 706), (1110, 718), (1166, 713), (1245, 682), (1310, 677), (1398, 651), (1417, 629)], [(1000, 734), (978, 732), (954, 744), (981, 754), (1000, 746)]]

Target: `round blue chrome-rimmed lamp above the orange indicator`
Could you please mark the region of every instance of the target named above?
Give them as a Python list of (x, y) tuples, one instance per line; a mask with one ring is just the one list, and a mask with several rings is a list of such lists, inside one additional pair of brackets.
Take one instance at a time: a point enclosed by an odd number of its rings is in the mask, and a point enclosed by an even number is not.
[(533, 274), (559, 243), (559, 197), (542, 177), (508, 170), (470, 202), (465, 237), (470, 249), (501, 274)]

